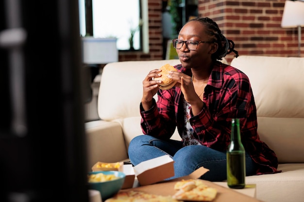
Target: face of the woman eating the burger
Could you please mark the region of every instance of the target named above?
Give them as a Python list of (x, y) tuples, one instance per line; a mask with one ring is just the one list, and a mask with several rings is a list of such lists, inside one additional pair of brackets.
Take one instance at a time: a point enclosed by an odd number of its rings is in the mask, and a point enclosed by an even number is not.
[[(206, 35), (205, 26), (198, 21), (190, 21), (181, 29), (178, 39), (195, 41), (212, 41), (210, 36)], [(197, 49), (189, 50), (186, 44), (176, 49), (179, 60), (185, 68), (202, 67), (212, 61), (211, 54), (217, 50), (216, 43), (199, 43)]]

